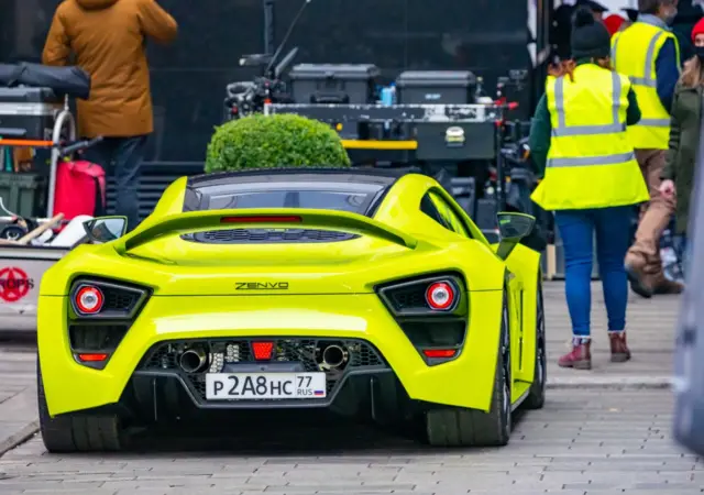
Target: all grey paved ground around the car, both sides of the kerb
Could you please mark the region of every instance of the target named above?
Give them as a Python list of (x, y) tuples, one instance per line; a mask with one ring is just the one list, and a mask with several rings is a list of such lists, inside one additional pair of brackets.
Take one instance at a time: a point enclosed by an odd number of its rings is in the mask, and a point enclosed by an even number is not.
[[(570, 323), (562, 283), (546, 284), (550, 387), (518, 418), (504, 449), (440, 451), (365, 427), (292, 427), (264, 418), (217, 438), (140, 437), (117, 455), (50, 455), (36, 428), (35, 354), (0, 342), (0, 495), (540, 493), (683, 495), (704, 492), (704, 464), (670, 439), (675, 297), (629, 306), (634, 361), (608, 363), (601, 287), (593, 286), (594, 370), (553, 365)], [(227, 425), (228, 421), (223, 421)]]

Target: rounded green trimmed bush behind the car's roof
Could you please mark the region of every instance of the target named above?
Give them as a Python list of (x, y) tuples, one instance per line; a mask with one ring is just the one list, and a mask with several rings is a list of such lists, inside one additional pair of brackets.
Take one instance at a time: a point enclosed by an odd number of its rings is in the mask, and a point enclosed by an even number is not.
[(208, 144), (206, 172), (242, 168), (350, 166), (340, 136), (305, 117), (261, 113), (227, 122)]

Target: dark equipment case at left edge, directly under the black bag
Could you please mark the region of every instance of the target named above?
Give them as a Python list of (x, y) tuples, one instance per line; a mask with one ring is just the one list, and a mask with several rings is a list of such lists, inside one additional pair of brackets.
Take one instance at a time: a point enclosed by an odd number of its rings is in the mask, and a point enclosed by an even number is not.
[(62, 108), (48, 88), (0, 87), (0, 136), (48, 141)]

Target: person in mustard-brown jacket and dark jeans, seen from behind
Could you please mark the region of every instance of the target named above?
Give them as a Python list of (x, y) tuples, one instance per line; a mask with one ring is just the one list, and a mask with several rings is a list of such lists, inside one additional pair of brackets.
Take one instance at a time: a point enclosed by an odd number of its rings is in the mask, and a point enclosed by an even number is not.
[(146, 140), (154, 131), (146, 40), (169, 43), (176, 21), (155, 0), (64, 0), (42, 62), (76, 64), (90, 74), (90, 98), (78, 100), (78, 133), (105, 140), (86, 157), (114, 175), (118, 215), (139, 223), (138, 188)]

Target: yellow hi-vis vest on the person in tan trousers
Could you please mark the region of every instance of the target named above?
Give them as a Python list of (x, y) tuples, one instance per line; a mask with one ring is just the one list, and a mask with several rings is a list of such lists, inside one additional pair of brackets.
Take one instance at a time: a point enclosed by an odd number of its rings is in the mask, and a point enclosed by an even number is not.
[(628, 136), (637, 150), (667, 150), (670, 139), (670, 109), (658, 97), (656, 59), (668, 40), (674, 40), (676, 64), (680, 67), (680, 46), (674, 34), (636, 22), (612, 37), (612, 65), (617, 73), (630, 78), (642, 114), (637, 125), (628, 128)]

